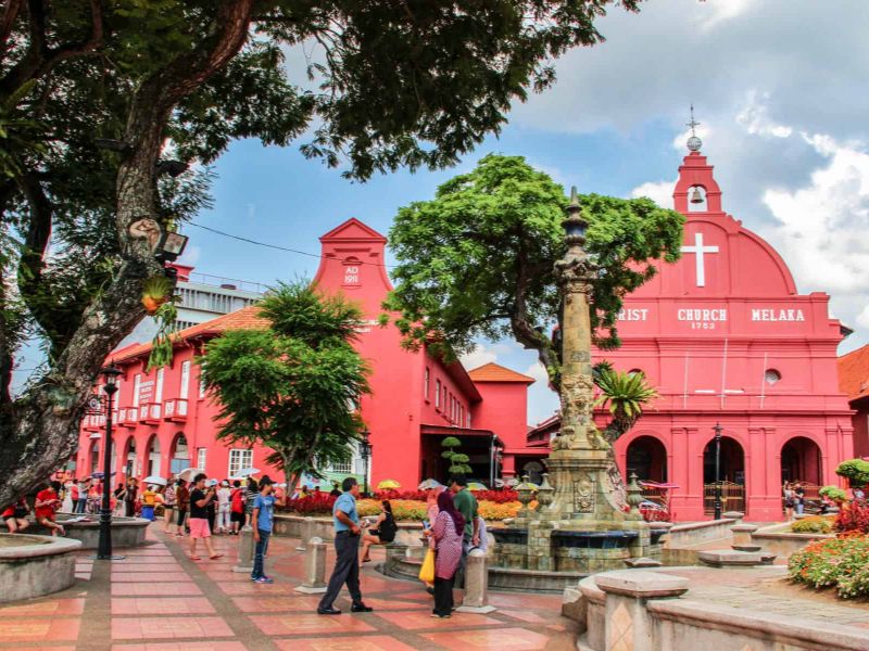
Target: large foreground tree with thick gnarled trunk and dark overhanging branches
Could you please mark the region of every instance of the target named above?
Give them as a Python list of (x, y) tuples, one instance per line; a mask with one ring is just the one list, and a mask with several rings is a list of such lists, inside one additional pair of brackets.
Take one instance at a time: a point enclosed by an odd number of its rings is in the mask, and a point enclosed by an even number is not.
[[(451, 165), (552, 84), (555, 58), (602, 40), (610, 4), (7, 0), (0, 503), (74, 451), (97, 372), (143, 316), (163, 265), (135, 225), (207, 204), (203, 166), (232, 140), (284, 145), (314, 124), (302, 152), (358, 180)], [(305, 69), (288, 69), (293, 47), (313, 51)], [(47, 361), (12, 396), (30, 336)]]

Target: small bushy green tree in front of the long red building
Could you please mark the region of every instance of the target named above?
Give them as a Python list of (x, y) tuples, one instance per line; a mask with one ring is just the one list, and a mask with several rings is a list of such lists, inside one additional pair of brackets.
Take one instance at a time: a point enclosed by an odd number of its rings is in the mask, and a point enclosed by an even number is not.
[(202, 379), (221, 406), (217, 437), (269, 447), (268, 462), (295, 486), (303, 473), (347, 461), (361, 441), (369, 370), (352, 343), (362, 312), (305, 282), (278, 285), (259, 308), (270, 327), (210, 342)]

